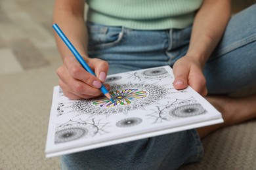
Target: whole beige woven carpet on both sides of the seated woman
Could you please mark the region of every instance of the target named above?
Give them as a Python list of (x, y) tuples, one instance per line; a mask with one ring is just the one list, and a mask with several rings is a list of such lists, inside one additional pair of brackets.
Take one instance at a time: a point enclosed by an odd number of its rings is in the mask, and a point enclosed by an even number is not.
[[(58, 65), (0, 75), (0, 169), (60, 169), (44, 153)], [(181, 169), (255, 169), (255, 131), (253, 120), (212, 133), (203, 160)]]

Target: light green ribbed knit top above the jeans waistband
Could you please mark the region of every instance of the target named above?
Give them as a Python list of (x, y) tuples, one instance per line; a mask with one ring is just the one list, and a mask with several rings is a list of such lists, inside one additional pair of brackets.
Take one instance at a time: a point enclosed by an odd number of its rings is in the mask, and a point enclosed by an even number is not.
[(132, 29), (184, 28), (202, 0), (87, 0), (87, 20)]

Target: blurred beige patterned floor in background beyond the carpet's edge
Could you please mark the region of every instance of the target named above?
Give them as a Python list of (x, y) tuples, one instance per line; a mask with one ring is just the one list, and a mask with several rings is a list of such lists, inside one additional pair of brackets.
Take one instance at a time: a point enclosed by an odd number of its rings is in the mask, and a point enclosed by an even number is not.
[[(253, 2), (233, 0), (233, 12)], [(0, 74), (59, 61), (51, 27), (53, 5), (52, 0), (0, 0)]]

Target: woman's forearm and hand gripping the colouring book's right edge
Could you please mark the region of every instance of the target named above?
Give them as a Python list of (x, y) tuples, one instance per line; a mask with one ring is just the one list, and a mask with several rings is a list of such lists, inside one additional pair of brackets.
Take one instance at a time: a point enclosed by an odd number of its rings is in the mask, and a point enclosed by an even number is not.
[(173, 65), (177, 90), (191, 86), (201, 95), (207, 95), (203, 66), (217, 46), (230, 18), (230, 0), (204, 0), (192, 26), (186, 56)]

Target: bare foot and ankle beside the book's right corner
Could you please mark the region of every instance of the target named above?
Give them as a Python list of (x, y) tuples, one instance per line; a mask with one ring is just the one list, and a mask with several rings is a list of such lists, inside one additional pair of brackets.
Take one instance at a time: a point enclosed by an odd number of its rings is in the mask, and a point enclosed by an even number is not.
[(256, 94), (246, 97), (208, 95), (205, 99), (221, 112), (224, 123), (198, 128), (200, 138), (221, 127), (239, 124), (256, 118)]

